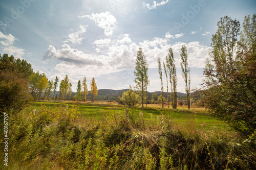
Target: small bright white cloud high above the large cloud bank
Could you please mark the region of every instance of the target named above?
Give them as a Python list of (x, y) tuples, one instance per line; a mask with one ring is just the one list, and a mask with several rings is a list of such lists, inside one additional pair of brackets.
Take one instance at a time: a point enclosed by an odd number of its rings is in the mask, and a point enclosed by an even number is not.
[(116, 29), (116, 18), (109, 11), (91, 15), (80, 15), (79, 18), (90, 18), (95, 21), (98, 27), (104, 30), (106, 36), (111, 36)]

